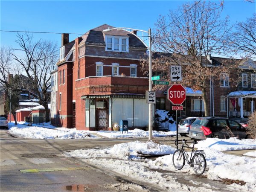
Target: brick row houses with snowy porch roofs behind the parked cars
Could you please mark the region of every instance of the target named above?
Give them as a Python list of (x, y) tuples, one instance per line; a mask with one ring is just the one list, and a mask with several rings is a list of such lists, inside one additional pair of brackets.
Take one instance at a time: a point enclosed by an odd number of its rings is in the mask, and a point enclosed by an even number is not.
[[(205, 61), (208, 66), (218, 67), (228, 58), (212, 57)], [(210, 116), (225, 116), (230, 118), (244, 118), (255, 111), (256, 98), (256, 62), (247, 59), (239, 60), (239, 67), (230, 74), (223, 73), (220, 77), (209, 77), (207, 100)], [(166, 78), (168, 73), (156, 71), (153, 74)], [(167, 89), (168, 87), (166, 87)], [(159, 93), (159, 92), (158, 92)], [(158, 94), (157, 109), (171, 111), (172, 105), (167, 98), (167, 91)], [(193, 91), (186, 87), (186, 101), (179, 116), (204, 116), (204, 102), (201, 91)]]

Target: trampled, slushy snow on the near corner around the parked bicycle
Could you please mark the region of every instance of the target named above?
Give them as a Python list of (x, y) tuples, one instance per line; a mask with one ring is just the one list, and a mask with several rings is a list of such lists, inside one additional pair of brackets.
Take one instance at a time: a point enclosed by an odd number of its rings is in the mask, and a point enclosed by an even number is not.
[[(253, 144), (253, 142), (251, 143)], [(254, 141), (256, 145), (256, 141)], [(137, 180), (158, 184), (162, 189), (169, 191), (209, 191), (214, 186), (200, 185), (191, 187), (180, 185), (178, 180), (169, 175), (152, 171), (162, 169), (184, 174), (194, 174), (192, 168), (185, 164), (182, 170), (175, 170), (172, 165), (172, 154), (175, 148), (168, 145), (159, 145), (149, 141), (122, 143), (105, 149), (81, 149), (65, 152), (67, 157), (78, 157), (87, 163), (109, 169), (110, 171), (132, 177)], [(232, 184), (228, 186), (230, 191), (254, 191), (256, 188), (256, 159), (250, 157), (238, 157), (224, 154), (213, 148), (204, 148), (207, 160), (207, 170), (204, 173), (207, 178), (220, 180), (228, 178), (246, 182), (244, 186)], [(169, 154), (158, 157), (156, 160), (147, 160), (137, 157), (137, 154)], [(191, 181), (194, 182), (194, 181)], [(195, 183), (195, 182), (194, 182)], [(161, 189), (160, 189), (161, 190)]]

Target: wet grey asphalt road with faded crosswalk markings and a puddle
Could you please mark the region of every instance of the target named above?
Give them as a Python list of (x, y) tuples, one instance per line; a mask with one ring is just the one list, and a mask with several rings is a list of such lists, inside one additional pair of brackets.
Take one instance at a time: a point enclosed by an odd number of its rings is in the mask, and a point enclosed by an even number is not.
[[(79, 159), (60, 156), (64, 151), (106, 148), (133, 140), (138, 139), (22, 139), (11, 137), (7, 130), (0, 129), (0, 191), (142, 191), (142, 189), (162, 191), (155, 185), (127, 177), (122, 178), (121, 175), (85, 164)], [(146, 142), (148, 139), (139, 140)], [(174, 146), (175, 137), (155, 138), (155, 140)], [(225, 191), (224, 184), (204, 177), (176, 172), (163, 174), (179, 178), (182, 184), (195, 185), (189, 182), (195, 180), (199, 183), (209, 183), (217, 186), (215, 189)]]

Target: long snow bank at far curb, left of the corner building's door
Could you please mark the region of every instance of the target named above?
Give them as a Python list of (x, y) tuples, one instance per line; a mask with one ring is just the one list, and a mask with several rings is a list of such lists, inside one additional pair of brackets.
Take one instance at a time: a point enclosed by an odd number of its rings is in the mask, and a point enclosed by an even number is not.
[(96, 139), (99, 138), (87, 131), (67, 128), (42, 128), (37, 126), (18, 125), (9, 129), (9, 134), (29, 139)]

